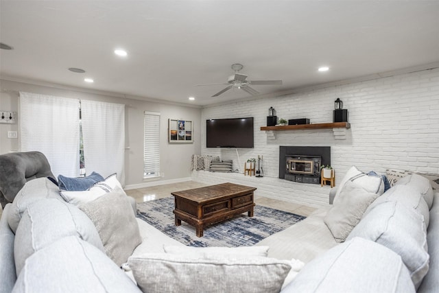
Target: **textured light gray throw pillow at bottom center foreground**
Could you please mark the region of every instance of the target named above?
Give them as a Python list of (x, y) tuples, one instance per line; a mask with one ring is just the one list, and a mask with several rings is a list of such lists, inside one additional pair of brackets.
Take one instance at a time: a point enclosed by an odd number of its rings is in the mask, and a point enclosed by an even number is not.
[(280, 292), (291, 266), (268, 257), (199, 259), (168, 253), (130, 257), (143, 292)]

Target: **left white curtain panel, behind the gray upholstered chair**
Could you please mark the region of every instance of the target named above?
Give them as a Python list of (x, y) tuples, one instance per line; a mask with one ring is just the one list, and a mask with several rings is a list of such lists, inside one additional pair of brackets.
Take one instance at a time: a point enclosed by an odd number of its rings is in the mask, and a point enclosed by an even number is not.
[(45, 154), (56, 177), (79, 176), (79, 100), (20, 92), (19, 102), (21, 152)]

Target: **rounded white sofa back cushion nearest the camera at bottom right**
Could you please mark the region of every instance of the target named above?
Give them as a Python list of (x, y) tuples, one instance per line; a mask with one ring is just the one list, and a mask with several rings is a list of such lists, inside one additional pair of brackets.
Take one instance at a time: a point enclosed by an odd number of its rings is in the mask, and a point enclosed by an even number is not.
[(309, 262), (282, 292), (415, 292), (401, 257), (355, 237)]

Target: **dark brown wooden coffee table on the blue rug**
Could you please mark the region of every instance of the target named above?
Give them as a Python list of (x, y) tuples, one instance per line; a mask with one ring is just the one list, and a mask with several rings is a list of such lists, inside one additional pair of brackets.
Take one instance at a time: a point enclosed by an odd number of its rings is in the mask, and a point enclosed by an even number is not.
[(233, 218), (248, 212), (253, 216), (253, 191), (256, 188), (233, 183), (222, 183), (207, 187), (172, 192), (175, 198), (174, 214), (176, 226), (181, 221), (195, 226), (198, 237), (202, 237), (205, 226)]

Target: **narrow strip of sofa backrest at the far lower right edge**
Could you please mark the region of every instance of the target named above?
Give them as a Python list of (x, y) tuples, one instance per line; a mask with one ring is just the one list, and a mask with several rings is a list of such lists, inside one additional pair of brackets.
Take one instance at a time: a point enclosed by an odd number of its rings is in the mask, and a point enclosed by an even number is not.
[(430, 210), (430, 225), (427, 230), (429, 270), (418, 292), (439, 291), (439, 192), (434, 194), (433, 207)]

